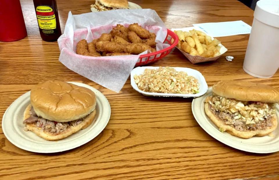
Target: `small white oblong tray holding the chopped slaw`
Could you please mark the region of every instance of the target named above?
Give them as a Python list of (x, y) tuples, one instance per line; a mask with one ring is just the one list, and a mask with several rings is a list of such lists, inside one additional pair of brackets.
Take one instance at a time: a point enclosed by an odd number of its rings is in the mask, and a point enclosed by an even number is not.
[(197, 71), (195, 69), (190, 69), (190, 68), (172, 67), (176, 71), (184, 71), (188, 75), (194, 76), (198, 80), (198, 82), (200, 83), (199, 93), (196, 93), (196, 94), (149, 93), (149, 92), (145, 92), (145, 91), (140, 90), (137, 87), (137, 84), (134, 80), (134, 75), (142, 74), (144, 72), (144, 69), (158, 69), (158, 68), (159, 67), (144, 66), (144, 67), (137, 67), (137, 68), (133, 69), (133, 71), (131, 72), (131, 85), (132, 85), (133, 89), (135, 89), (139, 93), (142, 93), (144, 96), (164, 96), (164, 97), (183, 97), (183, 98), (202, 96), (204, 93), (206, 93), (206, 91), (208, 89), (205, 78), (203, 77), (203, 75), (199, 71)]

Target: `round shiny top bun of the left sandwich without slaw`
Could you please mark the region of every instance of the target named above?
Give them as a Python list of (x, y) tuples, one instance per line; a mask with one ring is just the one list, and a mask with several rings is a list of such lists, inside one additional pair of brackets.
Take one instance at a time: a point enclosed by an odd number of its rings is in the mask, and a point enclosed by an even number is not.
[(37, 116), (57, 122), (83, 118), (96, 107), (93, 91), (59, 80), (37, 84), (31, 89), (30, 101)]

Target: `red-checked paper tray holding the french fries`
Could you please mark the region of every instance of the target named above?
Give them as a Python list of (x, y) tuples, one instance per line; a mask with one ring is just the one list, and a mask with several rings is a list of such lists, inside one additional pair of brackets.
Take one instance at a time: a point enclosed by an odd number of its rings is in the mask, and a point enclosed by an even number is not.
[[(204, 32), (201, 28), (199, 27), (196, 27), (196, 26), (193, 26), (193, 27), (187, 27), (187, 28), (172, 28), (171, 31), (174, 31), (174, 30), (182, 30), (182, 31), (189, 31), (189, 30), (200, 30), (202, 32)], [(211, 36), (210, 34), (204, 32), (205, 34), (207, 34), (208, 36)], [(211, 39), (213, 40), (214, 38), (211, 36)], [(219, 57), (221, 57), (224, 53), (226, 53), (228, 51), (227, 48), (225, 48), (225, 46), (223, 46), (221, 43), (219, 44), (220, 46), (220, 55), (219, 56), (215, 56), (215, 57), (203, 57), (203, 56), (193, 56), (193, 55), (190, 55), (182, 50), (180, 50), (179, 48), (177, 48), (185, 57), (187, 57), (187, 59), (192, 62), (193, 64), (196, 64), (196, 63), (200, 63), (200, 62), (207, 62), (207, 61), (215, 61), (217, 60)]]

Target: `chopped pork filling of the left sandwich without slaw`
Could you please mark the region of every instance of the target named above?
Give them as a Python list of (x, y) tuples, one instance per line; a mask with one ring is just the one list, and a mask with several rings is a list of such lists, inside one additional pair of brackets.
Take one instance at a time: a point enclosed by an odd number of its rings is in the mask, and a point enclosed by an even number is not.
[(23, 124), (33, 124), (34, 123), (34, 124), (36, 124), (37, 127), (41, 127), (44, 131), (50, 132), (52, 134), (59, 134), (60, 132), (65, 131), (70, 126), (76, 126), (76, 125), (80, 124), (87, 117), (87, 116), (85, 116), (81, 119), (73, 120), (70, 122), (60, 123), (60, 122), (56, 122), (56, 121), (47, 120), (42, 117), (38, 117), (37, 114), (35, 113), (33, 107), (31, 107), (30, 115), (31, 115), (31, 117), (25, 119), (23, 121)]

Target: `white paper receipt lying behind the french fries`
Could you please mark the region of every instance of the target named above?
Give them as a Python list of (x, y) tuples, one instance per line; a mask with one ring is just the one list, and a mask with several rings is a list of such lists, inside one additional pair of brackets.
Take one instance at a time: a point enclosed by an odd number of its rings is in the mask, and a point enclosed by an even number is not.
[(243, 21), (201, 23), (193, 24), (193, 26), (201, 28), (212, 37), (250, 34), (252, 28)]

